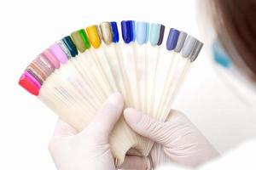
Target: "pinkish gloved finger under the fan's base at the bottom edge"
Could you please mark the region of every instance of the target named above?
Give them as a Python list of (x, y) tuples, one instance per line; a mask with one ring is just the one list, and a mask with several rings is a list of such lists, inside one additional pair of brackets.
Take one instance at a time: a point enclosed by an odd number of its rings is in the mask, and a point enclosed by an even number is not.
[(147, 170), (149, 169), (149, 166), (150, 162), (147, 157), (125, 156), (125, 161), (119, 166), (119, 169)]

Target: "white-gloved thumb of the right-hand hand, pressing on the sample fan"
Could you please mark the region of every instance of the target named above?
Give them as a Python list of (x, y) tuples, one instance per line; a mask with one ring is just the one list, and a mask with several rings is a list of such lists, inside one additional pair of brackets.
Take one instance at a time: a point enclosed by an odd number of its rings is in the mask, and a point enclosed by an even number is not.
[(154, 142), (164, 144), (164, 122), (155, 122), (151, 117), (135, 109), (128, 108), (124, 112), (125, 121), (135, 132)]

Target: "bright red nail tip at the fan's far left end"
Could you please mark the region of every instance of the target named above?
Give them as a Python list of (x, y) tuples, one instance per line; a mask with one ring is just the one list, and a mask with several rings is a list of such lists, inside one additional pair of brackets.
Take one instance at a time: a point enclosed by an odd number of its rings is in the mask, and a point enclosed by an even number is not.
[(22, 88), (25, 88), (26, 91), (28, 91), (30, 94), (38, 96), (40, 88), (38, 88), (38, 85), (36, 85), (31, 78), (26, 77), (26, 74), (23, 74), (20, 77), (19, 84)]

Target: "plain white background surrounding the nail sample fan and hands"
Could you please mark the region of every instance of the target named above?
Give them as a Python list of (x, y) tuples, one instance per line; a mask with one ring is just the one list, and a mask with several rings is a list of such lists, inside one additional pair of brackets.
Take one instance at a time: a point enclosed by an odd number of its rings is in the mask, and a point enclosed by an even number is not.
[[(55, 169), (47, 145), (57, 117), (17, 84), (26, 65), (55, 40), (106, 20), (158, 22), (202, 41), (210, 34), (198, 30), (206, 23), (196, 14), (193, 0), (8, 0), (0, 3), (0, 18), (0, 169)], [(238, 82), (240, 90), (224, 80), (223, 71), (212, 64), (208, 45), (195, 62), (175, 108), (224, 153), (256, 136), (255, 94)]]

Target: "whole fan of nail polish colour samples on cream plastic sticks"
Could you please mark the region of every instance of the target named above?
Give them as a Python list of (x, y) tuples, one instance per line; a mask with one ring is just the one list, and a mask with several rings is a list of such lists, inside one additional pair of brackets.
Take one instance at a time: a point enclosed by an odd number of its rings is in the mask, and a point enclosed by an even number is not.
[[(121, 93), (134, 107), (164, 122), (202, 43), (184, 31), (125, 20), (73, 31), (39, 54), (19, 84), (79, 131), (108, 95)], [(119, 32), (123, 40), (119, 40)], [(164, 42), (166, 41), (166, 42)], [(110, 138), (113, 156), (131, 148), (148, 156), (153, 145), (119, 119)]]

